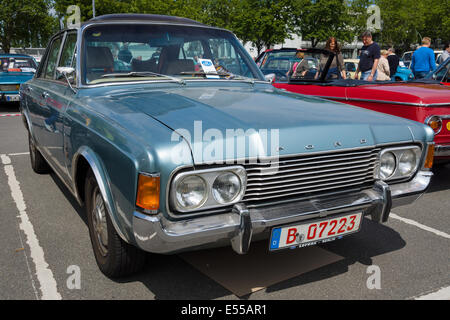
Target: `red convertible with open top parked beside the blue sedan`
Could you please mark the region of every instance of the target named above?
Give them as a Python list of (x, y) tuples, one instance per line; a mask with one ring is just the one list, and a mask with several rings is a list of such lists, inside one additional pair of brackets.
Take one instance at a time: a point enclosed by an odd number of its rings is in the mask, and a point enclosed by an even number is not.
[(339, 79), (332, 52), (303, 51), (305, 63), (295, 65), (296, 70), (290, 70), (284, 81), (275, 77), (272, 84), (276, 88), (425, 123), (435, 132), (435, 161), (450, 161), (450, 87), (429, 79), (408, 82), (343, 80)]

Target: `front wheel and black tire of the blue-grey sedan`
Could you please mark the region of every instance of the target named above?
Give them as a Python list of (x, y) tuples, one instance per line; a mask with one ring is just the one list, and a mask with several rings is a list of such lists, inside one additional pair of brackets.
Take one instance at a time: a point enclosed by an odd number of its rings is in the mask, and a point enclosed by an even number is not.
[(117, 234), (91, 170), (87, 174), (84, 190), (89, 235), (100, 271), (109, 278), (118, 278), (142, 270), (146, 253), (126, 243)]

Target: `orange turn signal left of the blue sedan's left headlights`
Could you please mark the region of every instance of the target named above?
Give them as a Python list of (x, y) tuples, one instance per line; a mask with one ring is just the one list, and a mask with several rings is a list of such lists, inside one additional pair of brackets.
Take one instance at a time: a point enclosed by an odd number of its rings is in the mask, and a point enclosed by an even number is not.
[(147, 213), (157, 213), (159, 209), (160, 179), (158, 176), (140, 174), (138, 179), (136, 205)]

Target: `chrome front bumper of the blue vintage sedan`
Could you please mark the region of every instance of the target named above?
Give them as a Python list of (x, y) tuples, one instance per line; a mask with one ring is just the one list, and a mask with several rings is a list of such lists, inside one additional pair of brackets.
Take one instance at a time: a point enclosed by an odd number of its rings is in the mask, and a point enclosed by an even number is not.
[(409, 182), (387, 185), (377, 182), (372, 189), (335, 198), (291, 202), (271, 207), (247, 209), (236, 204), (232, 212), (206, 217), (171, 221), (162, 214), (134, 213), (136, 244), (154, 253), (175, 253), (231, 244), (244, 254), (252, 240), (268, 238), (275, 226), (362, 211), (372, 220), (386, 222), (391, 208), (410, 204), (427, 189), (432, 173), (419, 171)]

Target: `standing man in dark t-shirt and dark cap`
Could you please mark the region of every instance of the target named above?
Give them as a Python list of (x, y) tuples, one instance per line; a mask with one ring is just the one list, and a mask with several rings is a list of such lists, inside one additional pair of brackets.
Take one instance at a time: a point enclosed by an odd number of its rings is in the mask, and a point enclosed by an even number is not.
[(355, 79), (361, 71), (361, 80), (375, 81), (377, 79), (377, 67), (380, 60), (380, 47), (372, 39), (372, 33), (365, 31), (362, 36), (363, 47), (361, 48), (361, 58), (355, 72)]

